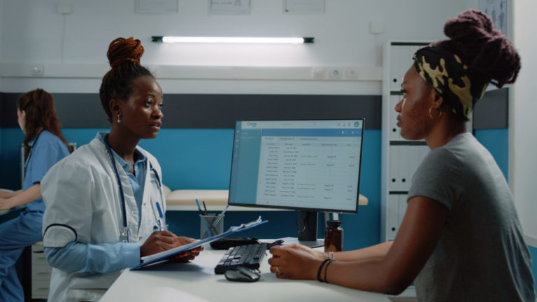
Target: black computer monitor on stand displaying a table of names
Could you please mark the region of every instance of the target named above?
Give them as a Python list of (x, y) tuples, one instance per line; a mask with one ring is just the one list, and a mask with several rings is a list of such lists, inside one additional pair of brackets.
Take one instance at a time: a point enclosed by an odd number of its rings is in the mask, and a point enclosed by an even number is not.
[(363, 118), (237, 121), (229, 205), (299, 210), (317, 240), (317, 212), (358, 211), (363, 135)]

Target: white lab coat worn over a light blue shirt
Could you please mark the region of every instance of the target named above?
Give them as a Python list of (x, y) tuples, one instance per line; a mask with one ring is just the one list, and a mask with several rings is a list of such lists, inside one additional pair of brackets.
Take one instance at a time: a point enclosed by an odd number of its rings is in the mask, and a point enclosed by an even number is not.
[[(129, 242), (143, 243), (157, 225), (155, 201), (166, 207), (164, 191), (149, 163), (162, 180), (157, 159), (137, 147), (148, 158), (141, 222), (127, 174), (117, 164), (125, 196)], [(59, 161), (41, 181), (45, 201), (43, 245), (63, 247), (71, 241), (98, 245), (120, 242), (123, 229), (122, 203), (117, 177), (105, 145), (94, 138)], [(155, 215), (156, 214), (156, 215)], [(112, 285), (120, 272), (113, 274), (66, 273), (52, 269), (48, 301), (96, 301)]]

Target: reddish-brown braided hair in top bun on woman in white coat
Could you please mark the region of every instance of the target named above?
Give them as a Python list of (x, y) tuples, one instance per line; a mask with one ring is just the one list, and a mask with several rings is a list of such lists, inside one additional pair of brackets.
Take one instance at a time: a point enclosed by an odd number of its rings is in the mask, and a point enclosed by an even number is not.
[(141, 76), (155, 78), (152, 73), (140, 65), (143, 55), (143, 46), (140, 40), (130, 38), (117, 38), (110, 43), (106, 56), (112, 69), (106, 73), (99, 89), (101, 104), (108, 115), (108, 122), (112, 122), (110, 100), (127, 100), (132, 92), (132, 81)]

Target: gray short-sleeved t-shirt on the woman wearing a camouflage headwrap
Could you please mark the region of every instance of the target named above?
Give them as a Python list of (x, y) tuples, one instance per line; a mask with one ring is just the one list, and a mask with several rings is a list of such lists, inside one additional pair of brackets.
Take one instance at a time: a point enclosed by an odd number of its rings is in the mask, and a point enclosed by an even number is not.
[(513, 195), (492, 155), (469, 133), (431, 150), (408, 197), (449, 210), (415, 280), (417, 301), (535, 301), (531, 256)]

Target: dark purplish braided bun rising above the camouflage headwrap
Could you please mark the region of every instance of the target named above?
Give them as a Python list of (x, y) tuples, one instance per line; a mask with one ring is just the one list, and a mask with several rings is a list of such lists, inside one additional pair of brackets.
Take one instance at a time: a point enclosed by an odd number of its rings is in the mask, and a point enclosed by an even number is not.
[(520, 56), (513, 44), (479, 10), (466, 10), (447, 20), (444, 34), (450, 40), (434, 43), (458, 55), (472, 77), (501, 88), (513, 83), (520, 71)]

